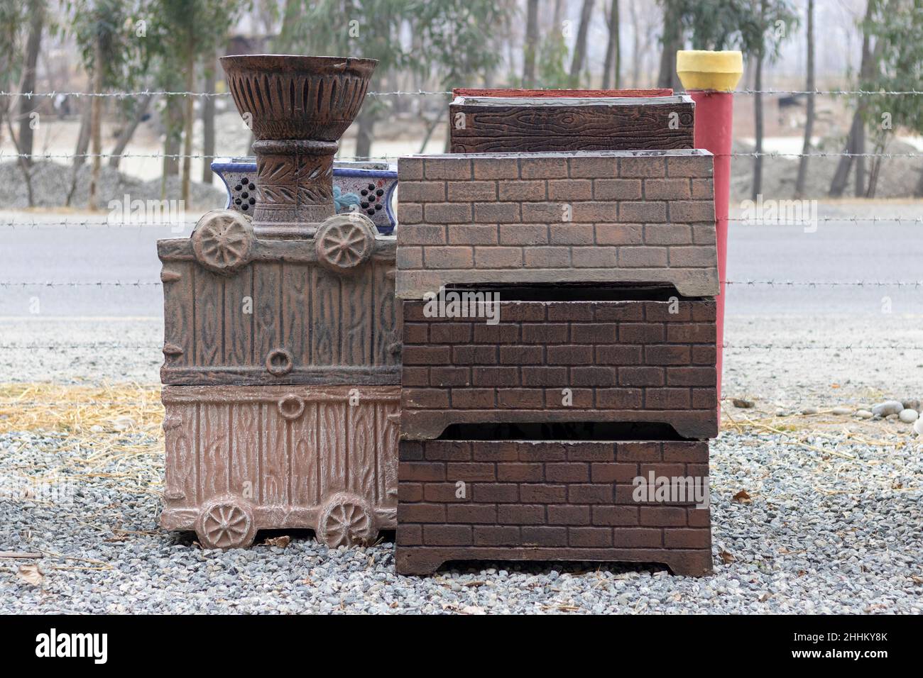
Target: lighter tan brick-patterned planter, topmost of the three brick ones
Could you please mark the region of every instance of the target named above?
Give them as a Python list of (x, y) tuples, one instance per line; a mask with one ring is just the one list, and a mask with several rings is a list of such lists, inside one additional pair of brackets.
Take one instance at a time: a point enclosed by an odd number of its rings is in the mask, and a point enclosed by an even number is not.
[(714, 296), (712, 161), (694, 149), (401, 158), (397, 294), (574, 281)]

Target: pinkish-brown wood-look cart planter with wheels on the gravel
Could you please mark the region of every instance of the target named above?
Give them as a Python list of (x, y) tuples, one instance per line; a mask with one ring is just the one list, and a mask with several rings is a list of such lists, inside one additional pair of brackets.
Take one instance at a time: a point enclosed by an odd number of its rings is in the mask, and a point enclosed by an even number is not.
[(249, 546), (258, 529), (315, 529), (331, 546), (394, 529), (399, 391), (165, 387), (163, 528), (206, 548)]

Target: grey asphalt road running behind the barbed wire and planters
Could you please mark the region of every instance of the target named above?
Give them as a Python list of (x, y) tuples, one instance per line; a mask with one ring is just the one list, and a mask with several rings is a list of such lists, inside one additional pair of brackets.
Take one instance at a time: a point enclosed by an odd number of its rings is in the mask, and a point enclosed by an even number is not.
[[(912, 221), (923, 219), (923, 203), (821, 205), (819, 216), (816, 232), (732, 222), (728, 315), (878, 315), (889, 304), (893, 315), (923, 314), (923, 222)], [(881, 221), (848, 220), (852, 216)], [(187, 235), (188, 227), (174, 233), (152, 226), (34, 225), (65, 218), (71, 224), (87, 219), (0, 212), (0, 316), (162, 315), (155, 242)], [(774, 284), (766, 284), (770, 280)], [(921, 285), (875, 284), (894, 280)], [(803, 284), (831, 281), (863, 285)]]

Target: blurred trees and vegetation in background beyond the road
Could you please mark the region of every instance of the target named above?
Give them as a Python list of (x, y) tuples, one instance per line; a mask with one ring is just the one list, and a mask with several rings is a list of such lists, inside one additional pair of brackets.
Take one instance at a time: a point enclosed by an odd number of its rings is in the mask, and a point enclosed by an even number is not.
[[(0, 202), (48, 206), (40, 179), (51, 176), (60, 189), (52, 206), (99, 206), (119, 171), (189, 200), (213, 183), (211, 158), (249, 153), (252, 139), (224, 96), (223, 54), (378, 59), (370, 90), (413, 94), (369, 97), (342, 154), (384, 158), (445, 148), (443, 92), (453, 87), (681, 89), (678, 49), (739, 49), (741, 89), (796, 90), (737, 96), (736, 148), (755, 153), (737, 163), (737, 194), (871, 197), (884, 187), (921, 196), (917, 159), (894, 162), (891, 180), (884, 158), (923, 148), (918, 96), (802, 91), (923, 89), (921, 4), (0, 0), (0, 186), (18, 191)], [(28, 96), (49, 92), (60, 94)], [(767, 150), (789, 157), (780, 164)], [(824, 151), (837, 157), (805, 155)]]

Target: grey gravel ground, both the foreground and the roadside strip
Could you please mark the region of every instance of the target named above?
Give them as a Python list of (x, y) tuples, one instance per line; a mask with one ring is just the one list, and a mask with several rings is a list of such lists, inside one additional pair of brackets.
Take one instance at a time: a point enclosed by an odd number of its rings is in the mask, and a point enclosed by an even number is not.
[[(729, 317), (729, 343), (776, 348), (727, 351), (725, 395), (757, 409), (726, 413), (744, 422), (776, 408), (918, 398), (916, 327), (900, 317)], [(145, 318), (0, 319), (6, 345), (30, 347), (0, 352), (0, 371), (152, 384), (160, 332)], [(107, 348), (79, 346), (93, 341)], [(817, 348), (850, 342), (907, 348)], [(815, 348), (781, 348), (793, 344)], [(921, 439), (893, 420), (830, 421), (781, 419), (776, 432), (725, 422), (712, 446), (715, 574), (701, 579), (656, 566), (511, 563), (400, 577), (389, 541), (330, 552), (310, 532), (285, 548), (202, 551), (158, 528), (156, 439), (106, 429), (75, 450), (64, 434), (2, 434), (7, 487), (29, 474), (73, 496), (0, 501), (0, 550), (48, 553), (0, 559), (0, 613), (921, 613)], [(749, 503), (733, 499), (741, 490)], [(36, 564), (41, 582), (18, 576)]]

